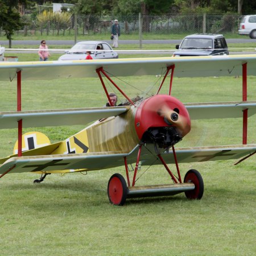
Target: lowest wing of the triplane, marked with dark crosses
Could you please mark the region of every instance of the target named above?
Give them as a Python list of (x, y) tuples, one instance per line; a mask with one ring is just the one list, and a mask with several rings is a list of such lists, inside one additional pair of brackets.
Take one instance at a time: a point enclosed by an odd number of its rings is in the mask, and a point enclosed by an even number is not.
[[(61, 173), (75, 171), (103, 170), (124, 165), (123, 158), (127, 157), (127, 163), (134, 163), (137, 159), (137, 147), (129, 154), (126, 152), (101, 152), (69, 155), (43, 155), (21, 156), (6, 160), (0, 166), (0, 174), (7, 172), (40, 172)], [(216, 147), (192, 147), (177, 148), (176, 155), (179, 163), (204, 162), (214, 160), (240, 159), (256, 152), (256, 144), (246, 146), (216, 146)], [(143, 165), (159, 164), (158, 157), (146, 150), (142, 150), (141, 162)], [(175, 163), (172, 152), (162, 154), (166, 163)], [(58, 171), (56, 171), (58, 170)]]

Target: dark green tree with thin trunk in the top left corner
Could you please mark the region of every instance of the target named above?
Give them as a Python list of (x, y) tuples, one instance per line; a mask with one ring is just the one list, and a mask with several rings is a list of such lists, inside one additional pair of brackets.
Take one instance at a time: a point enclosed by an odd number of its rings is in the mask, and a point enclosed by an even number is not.
[(6, 38), (9, 40), (9, 48), (11, 48), (14, 31), (24, 26), (18, 11), (19, 5), (26, 6), (27, 0), (0, 0), (0, 27), (5, 31)]

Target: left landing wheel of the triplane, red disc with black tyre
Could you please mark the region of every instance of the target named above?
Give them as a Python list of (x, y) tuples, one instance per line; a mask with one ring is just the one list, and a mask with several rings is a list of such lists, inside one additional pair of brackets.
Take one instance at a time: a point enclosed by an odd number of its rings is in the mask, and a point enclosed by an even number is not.
[(108, 196), (114, 205), (125, 204), (128, 188), (125, 178), (121, 174), (113, 174), (108, 183)]

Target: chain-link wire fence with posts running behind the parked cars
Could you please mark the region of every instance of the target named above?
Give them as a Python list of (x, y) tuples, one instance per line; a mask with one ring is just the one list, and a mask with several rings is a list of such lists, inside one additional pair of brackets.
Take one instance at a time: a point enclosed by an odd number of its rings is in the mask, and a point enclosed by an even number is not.
[[(67, 19), (52, 15), (45, 19), (22, 16), (26, 24), (17, 34), (27, 35), (96, 35), (110, 34), (114, 19), (118, 19), (121, 34), (237, 34), (241, 15), (71, 15)], [(0, 29), (0, 33), (3, 33)]]

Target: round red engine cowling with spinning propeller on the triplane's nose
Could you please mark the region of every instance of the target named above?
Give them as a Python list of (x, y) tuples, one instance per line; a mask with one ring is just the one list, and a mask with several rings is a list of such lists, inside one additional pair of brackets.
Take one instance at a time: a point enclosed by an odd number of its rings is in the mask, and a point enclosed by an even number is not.
[(144, 100), (135, 114), (135, 129), (143, 142), (166, 148), (181, 141), (191, 129), (185, 106), (175, 97), (156, 95)]

